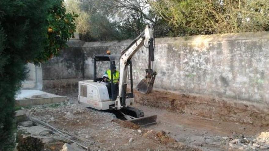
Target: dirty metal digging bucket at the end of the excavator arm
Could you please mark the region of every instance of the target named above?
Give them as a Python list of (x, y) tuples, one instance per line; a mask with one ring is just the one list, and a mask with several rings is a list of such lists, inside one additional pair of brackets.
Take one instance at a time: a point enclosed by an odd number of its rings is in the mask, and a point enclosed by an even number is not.
[(142, 79), (136, 86), (137, 91), (142, 94), (147, 94), (152, 91), (156, 76), (156, 72), (153, 72), (152, 69), (146, 69), (146, 73), (146, 77)]

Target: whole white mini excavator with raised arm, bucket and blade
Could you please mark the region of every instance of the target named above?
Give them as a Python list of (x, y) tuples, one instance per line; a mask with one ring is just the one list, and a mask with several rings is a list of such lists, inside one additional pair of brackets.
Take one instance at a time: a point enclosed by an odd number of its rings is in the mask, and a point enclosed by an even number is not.
[[(142, 94), (150, 93), (156, 72), (153, 68), (154, 61), (154, 37), (153, 29), (147, 25), (145, 30), (135, 38), (121, 55), (96, 55), (94, 57), (94, 79), (79, 81), (79, 103), (85, 107), (91, 107), (96, 110), (108, 110), (114, 113), (120, 113), (124, 119), (139, 125), (150, 125), (156, 123), (157, 115), (144, 116), (140, 109), (131, 107), (134, 104), (133, 76), (132, 76), (132, 56), (138, 52), (139, 48), (145, 46), (148, 49), (148, 68), (146, 76), (143, 78), (136, 89)], [(109, 84), (102, 82), (103, 78), (98, 77), (98, 65), (109, 62), (111, 79)], [(120, 78), (118, 84), (113, 83), (113, 72), (116, 70), (116, 62), (120, 66)], [(130, 71), (129, 71), (130, 70)], [(128, 80), (127, 81), (127, 75)], [(112, 82), (111, 82), (112, 81)], [(127, 84), (130, 85), (127, 93)], [(129, 86), (128, 85), (128, 86)]]

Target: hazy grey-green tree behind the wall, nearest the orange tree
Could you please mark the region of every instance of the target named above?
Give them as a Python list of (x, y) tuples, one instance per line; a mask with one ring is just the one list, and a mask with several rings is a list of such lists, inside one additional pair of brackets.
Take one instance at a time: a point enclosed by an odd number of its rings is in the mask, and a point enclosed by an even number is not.
[[(79, 32), (84, 41), (121, 40), (118, 24), (111, 16), (115, 14), (115, 5), (112, 0), (67, 0), (67, 3), (76, 2), (81, 14), (87, 14), (87, 24), (78, 23), (78, 26), (87, 28), (87, 32)], [(69, 8), (70, 6), (67, 5)]]

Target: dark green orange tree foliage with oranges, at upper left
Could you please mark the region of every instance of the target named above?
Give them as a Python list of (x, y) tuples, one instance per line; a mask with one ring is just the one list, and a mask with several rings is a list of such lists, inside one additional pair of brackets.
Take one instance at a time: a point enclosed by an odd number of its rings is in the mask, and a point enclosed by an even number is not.
[[(76, 31), (76, 24), (74, 23), (75, 17), (78, 17), (74, 13), (65, 13), (65, 6), (63, 0), (51, 1), (52, 5), (49, 14), (47, 16), (47, 36), (46, 45), (38, 56), (33, 59), (35, 64), (46, 61), (52, 56), (58, 56), (60, 50), (67, 47), (66, 42), (69, 38), (74, 37)], [(32, 62), (30, 60), (30, 62)]]

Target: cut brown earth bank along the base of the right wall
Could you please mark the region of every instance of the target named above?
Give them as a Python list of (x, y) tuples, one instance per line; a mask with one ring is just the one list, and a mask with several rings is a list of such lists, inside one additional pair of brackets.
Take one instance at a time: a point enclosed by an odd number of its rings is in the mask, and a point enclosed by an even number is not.
[[(212, 96), (185, 95), (159, 90), (144, 95), (135, 91), (135, 102), (215, 121), (232, 121), (256, 126), (269, 124), (269, 114), (265, 110)], [(268, 109), (268, 106), (263, 107)]]

